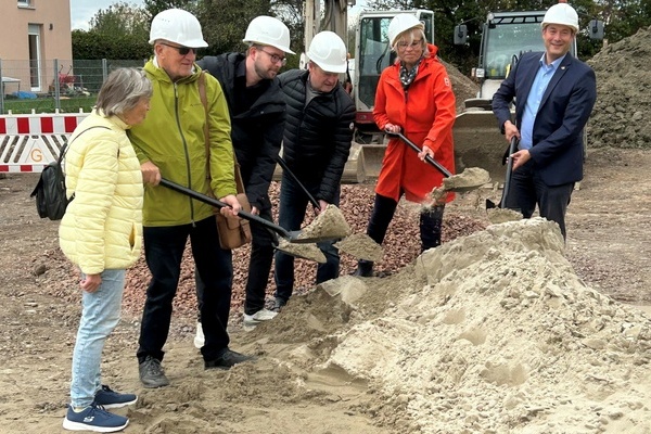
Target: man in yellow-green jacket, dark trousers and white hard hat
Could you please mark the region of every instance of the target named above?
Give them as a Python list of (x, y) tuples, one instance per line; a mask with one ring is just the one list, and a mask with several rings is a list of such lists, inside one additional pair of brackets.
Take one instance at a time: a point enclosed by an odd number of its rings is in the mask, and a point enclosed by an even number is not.
[[(224, 215), (234, 216), (240, 210), (226, 99), (217, 80), (204, 75), (206, 114), (199, 87), (202, 73), (194, 60), (196, 49), (207, 43), (191, 13), (169, 9), (157, 14), (152, 21), (150, 43), (154, 46), (154, 58), (144, 66), (154, 87), (150, 116), (132, 128), (129, 137), (145, 183), (144, 254), (152, 275), (137, 357), (142, 384), (161, 387), (169, 384), (161, 361), (188, 237), (197, 273), (205, 283), (201, 309), (205, 345), (201, 352), (206, 369), (228, 369), (251, 358), (228, 347), (232, 257), (230, 251), (219, 246), (213, 208), (158, 186), (164, 177), (219, 197), (230, 205), (221, 208)], [(209, 164), (204, 138), (206, 123)]]

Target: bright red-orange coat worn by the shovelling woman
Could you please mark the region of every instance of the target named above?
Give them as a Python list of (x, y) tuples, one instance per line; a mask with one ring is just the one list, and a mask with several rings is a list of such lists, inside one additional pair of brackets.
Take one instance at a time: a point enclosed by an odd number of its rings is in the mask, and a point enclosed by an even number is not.
[[(399, 78), (399, 61), (382, 72), (373, 118), (381, 130), (386, 124), (399, 125), (405, 137), (434, 151), (434, 159), (455, 174), (452, 126), (457, 115), (455, 93), (445, 66), (436, 59), (438, 49), (427, 44), (430, 56), (423, 59), (407, 93)], [(422, 202), (443, 175), (400, 139), (393, 137), (382, 159), (375, 192), (396, 202), (401, 193), (411, 202)], [(449, 193), (446, 201), (454, 199)]]

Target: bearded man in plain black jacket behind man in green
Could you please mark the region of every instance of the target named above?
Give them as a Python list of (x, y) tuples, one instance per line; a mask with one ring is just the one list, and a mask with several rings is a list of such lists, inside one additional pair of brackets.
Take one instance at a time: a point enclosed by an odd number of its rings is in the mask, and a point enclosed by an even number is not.
[[(272, 221), (269, 184), (276, 168), (284, 129), (285, 103), (278, 72), (290, 50), (290, 30), (277, 18), (254, 18), (243, 39), (246, 53), (205, 56), (197, 62), (217, 78), (231, 118), (231, 139), (240, 164), (252, 214)], [(252, 247), (244, 302), (244, 326), (255, 327), (277, 312), (265, 309), (265, 290), (273, 259), (272, 235), (251, 225)], [(197, 281), (199, 299), (202, 285)], [(203, 345), (201, 330), (194, 344)]]

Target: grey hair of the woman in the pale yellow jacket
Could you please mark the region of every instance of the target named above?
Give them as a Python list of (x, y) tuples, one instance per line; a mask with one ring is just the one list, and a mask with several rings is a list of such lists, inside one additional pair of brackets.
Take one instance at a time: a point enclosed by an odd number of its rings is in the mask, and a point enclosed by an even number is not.
[(95, 113), (103, 111), (106, 116), (123, 115), (136, 107), (141, 99), (152, 98), (154, 90), (144, 71), (135, 67), (122, 67), (108, 74), (102, 85)]

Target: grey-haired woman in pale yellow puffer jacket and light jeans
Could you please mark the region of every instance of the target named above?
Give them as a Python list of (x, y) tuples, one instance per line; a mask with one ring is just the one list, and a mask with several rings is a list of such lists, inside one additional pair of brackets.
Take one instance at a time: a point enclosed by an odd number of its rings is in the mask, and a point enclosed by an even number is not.
[(65, 155), (68, 204), (59, 228), (65, 256), (81, 271), (81, 319), (73, 353), (66, 430), (113, 432), (128, 419), (104, 408), (136, 403), (101, 384), (104, 342), (119, 321), (127, 267), (140, 256), (143, 184), (126, 130), (149, 111), (152, 85), (136, 68), (111, 73), (97, 106), (75, 129)]

